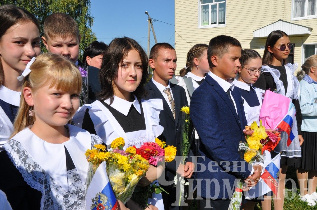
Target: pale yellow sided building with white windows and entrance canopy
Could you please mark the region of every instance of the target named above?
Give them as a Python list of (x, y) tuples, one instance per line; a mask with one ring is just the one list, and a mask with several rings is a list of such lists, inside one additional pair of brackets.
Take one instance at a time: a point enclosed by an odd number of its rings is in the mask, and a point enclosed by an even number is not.
[(282, 30), (294, 44), (288, 62), (301, 64), (317, 51), (317, 0), (175, 0), (177, 70), (197, 43), (233, 36), (263, 55), (266, 37)]

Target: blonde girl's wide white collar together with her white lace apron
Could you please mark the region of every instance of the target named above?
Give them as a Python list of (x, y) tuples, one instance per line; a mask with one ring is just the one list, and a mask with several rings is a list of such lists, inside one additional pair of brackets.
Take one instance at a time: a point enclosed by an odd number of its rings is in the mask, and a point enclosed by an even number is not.
[[(85, 152), (102, 140), (81, 128), (66, 126), (69, 140), (61, 144), (46, 142), (27, 127), (3, 145), (24, 181), (42, 192), (41, 209), (86, 209), (89, 163)], [(65, 147), (74, 163), (73, 170), (67, 171)]]

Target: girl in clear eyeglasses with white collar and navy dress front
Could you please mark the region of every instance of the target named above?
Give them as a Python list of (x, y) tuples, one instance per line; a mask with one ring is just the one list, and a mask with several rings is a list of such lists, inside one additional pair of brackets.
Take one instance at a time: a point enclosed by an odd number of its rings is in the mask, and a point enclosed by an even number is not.
[(262, 58), (255, 50), (241, 50), (241, 67), (238, 70), (234, 85), (240, 90), (244, 100), (244, 112), (248, 125), (256, 121), (260, 124), (260, 109), (263, 100), (264, 90), (253, 87), (253, 84), (260, 77), (262, 69)]

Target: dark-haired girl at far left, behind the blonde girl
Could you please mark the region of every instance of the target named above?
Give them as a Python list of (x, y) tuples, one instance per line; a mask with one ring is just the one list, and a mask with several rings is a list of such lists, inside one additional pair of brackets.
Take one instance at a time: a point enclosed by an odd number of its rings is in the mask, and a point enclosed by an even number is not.
[(0, 6), (0, 151), (13, 130), (20, 105), (20, 76), (28, 62), (41, 53), (40, 26), (27, 10)]

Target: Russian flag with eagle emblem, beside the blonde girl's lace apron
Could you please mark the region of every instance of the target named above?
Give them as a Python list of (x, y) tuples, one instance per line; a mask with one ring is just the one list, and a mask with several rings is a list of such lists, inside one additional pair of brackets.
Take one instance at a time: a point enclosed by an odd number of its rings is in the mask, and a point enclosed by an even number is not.
[(105, 161), (99, 165), (87, 189), (86, 209), (118, 209), (118, 201), (107, 176)]

